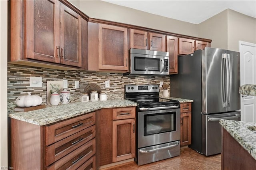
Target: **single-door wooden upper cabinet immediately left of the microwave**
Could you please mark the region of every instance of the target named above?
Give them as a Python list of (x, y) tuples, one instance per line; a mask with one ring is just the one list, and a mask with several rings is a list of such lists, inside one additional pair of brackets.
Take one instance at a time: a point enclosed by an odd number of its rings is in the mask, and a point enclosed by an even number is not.
[(88, 69), (128, 71), (127, 28), (108, 24), (88, 24)]

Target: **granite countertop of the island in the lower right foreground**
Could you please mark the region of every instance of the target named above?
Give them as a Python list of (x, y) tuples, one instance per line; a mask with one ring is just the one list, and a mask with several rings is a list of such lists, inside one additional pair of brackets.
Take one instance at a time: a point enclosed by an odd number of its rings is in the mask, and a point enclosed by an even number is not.
[(256, 160), (256, 123), (222, 119), (220, 125)]

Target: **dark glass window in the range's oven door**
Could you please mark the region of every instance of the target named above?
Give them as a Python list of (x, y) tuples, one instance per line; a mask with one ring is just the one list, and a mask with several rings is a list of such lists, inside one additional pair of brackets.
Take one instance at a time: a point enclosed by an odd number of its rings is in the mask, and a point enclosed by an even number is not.
[(176, 130), (176, 112), (144, 115), (144, 136)]

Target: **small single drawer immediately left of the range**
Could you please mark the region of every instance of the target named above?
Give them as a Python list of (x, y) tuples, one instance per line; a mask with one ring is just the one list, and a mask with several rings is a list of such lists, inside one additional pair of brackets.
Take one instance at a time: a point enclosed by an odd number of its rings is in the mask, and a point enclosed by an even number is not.
[(113, 120), (135, 118), (135, 107), (120, 107), (113, 109)]

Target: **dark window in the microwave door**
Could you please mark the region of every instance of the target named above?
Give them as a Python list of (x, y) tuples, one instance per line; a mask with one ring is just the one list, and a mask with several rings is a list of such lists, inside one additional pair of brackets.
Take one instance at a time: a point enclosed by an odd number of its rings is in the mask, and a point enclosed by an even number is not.
[(134, 57), (135, 71), (160, 71), (160, 59), (148, 57)]

